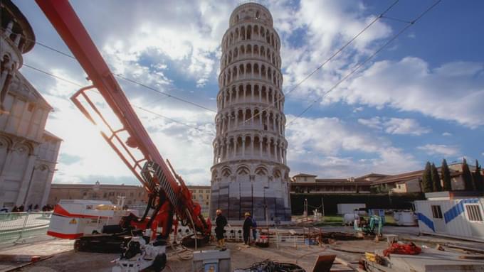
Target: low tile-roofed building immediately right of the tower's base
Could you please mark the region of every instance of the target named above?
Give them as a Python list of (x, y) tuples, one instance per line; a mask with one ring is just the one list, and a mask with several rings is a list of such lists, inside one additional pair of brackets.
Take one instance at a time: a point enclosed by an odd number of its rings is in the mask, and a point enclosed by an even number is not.
[(369, 193), (372, 180), (382, 174), (369, 174), (359, 178), (317, 178), (317, 175), (300, 173), (290, 182), (291, 193)]

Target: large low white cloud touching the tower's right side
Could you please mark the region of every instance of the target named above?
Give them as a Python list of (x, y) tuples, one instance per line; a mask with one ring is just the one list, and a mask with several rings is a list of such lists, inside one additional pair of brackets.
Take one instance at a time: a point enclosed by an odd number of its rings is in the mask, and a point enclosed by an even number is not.
[[(388, 139), (357, 131), (337, 118), (302, 117), (288, 126), (286, 135), (293, 173), (310, 170), (323, 176), (349, 177), (419, 168), (411, 154), (392, 146)], [(362, 158), (343, 155), (349, 152)]]

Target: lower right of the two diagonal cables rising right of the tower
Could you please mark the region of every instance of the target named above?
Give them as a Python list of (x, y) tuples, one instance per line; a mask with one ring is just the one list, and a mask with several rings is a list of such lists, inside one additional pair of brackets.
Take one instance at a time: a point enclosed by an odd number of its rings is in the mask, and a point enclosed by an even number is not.
[(419, 16), (417, 16), (417, 18), (415, 18), (413, 21), (409, 21), (406, 24), (406, 26), (404, 26), (404, 28), (401, 28), (401, 30), (398, 33), (396, 33), (396, 35), (394, 35), (391, 39), (389, 39), (388, 41), (386, 41), (386, 43), (384, 43), (384, 45), (382, 45), (377, 51), (375, 51), (372, 55), (370, 55), (366, 60), (364, 60), (359, 65), (357, 65), (356, 67), (354, 67), (354, 69), (351, 72), (349, 72), (347, 75), (345, 75), (344, 77), (342, 77), (342, 79), (339, 80), (330, 89), (328, 89), (327, 92), (323, 93), (320, 98), (315, 99), (308, 107), (306, 107), (304, 110), (302, 110), (300, 112), (300, 114), (298, 114), (298, 116), (296, 116), (293, 120), (291, 120), (290, 122), (288, 122), (288, 124), (286, 124), (285, 126), (287, 127), (290, 124), (292, 124), (294, 121), (296, 121), (297, 119), (299, 119), (300, 116), (302, 116), (302, 114), (305, 114), (305, 112), (308, 111), (312, 106), (314, 106), (315, 103), (319, 102), (322, 98), (324, 98), (326, 96), (326, 94), (329, 94), (334, 89), (336, 89), (336, 87), (338, 87), (344, 80), (346, 80), (349, 76), (353, 75), (354, 72), (356, 72), (357, 70), (359, 70), (359, 68), (362, 67), (365, 63), (369, 62), (369, 60), (371, 60), (372, 58), (374, 58), (374, 56), (377, 55), (380, 51), (382, 51), (386, 47), (386, 45), (389, 45), (392, 41), (394, 41), (396, 38), (398, 38), (401, 35), (401, 33), (404, 33), (407, 28), (413, 26), (414, 23), (416, 23), (416, 21), (419, 21), (420, 18), (422, 18), (426, 13), (428, 13), (428, 11), (431, 11), (431, 9), (433, 9), (435, 6), (437, 6), (437, 4), (439, 4), (441, 1), (442, 0), (436, 1), (430, 7), (428, 7), (428, 9), (426, 9)]

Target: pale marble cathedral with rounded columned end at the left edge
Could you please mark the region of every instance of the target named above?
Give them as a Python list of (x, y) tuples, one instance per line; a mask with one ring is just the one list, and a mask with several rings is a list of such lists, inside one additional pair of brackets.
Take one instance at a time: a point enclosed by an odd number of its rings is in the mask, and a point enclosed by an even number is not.
[(45, 130), (53, 108), (19, 72), (35, 43), (32, 28), (11, 1), (0, 6), (0, 207), (42, 207), (61, 138)]

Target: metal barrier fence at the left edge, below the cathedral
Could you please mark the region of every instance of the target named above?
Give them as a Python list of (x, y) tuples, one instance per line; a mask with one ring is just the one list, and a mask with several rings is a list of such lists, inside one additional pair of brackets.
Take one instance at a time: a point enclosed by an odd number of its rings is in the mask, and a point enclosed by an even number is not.
[(52, 212), (0, 213), (0, 244), (46, 234)]

